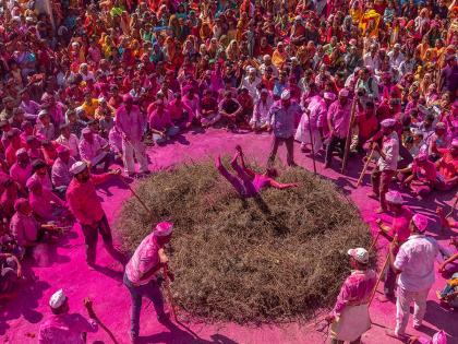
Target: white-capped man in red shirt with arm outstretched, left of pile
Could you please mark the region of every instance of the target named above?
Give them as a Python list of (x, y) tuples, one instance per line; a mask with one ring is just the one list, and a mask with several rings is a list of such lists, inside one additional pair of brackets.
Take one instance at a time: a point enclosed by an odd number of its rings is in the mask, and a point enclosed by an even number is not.
[(72, 165), (70, 173), (73, 175), (73, 179), (67, 189), (67, 201), (84, 234), (87, 264), (92, 268), (95, 266), (99, 233), (108, 253), (122, 263), (124, 258), (113, 247), (110, 225), (95, 189), (96, 185), (103, 183), (112, 176), (120, 175), (120, 170), (91, 175), (87, 164), (77, 162)]

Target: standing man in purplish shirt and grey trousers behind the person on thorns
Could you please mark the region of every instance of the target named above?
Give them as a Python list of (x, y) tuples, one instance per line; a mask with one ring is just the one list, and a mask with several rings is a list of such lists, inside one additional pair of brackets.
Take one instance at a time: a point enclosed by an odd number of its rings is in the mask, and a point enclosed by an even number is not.
[(284, 142), (287, 147), (288, 166), (297, 166), (294, 163), (294, 121), (297, 118), (300, 118), (301, 115), (301, 107), (296, 103), (291, 103), (291, 94), (289, 90), (281, 92), (280, 102), (274, 104), (269, 111), (269, 130), (274, 130), (274, 140), (267, 166), (273, 165), (275, 156), (277, 155), (278, 146)]

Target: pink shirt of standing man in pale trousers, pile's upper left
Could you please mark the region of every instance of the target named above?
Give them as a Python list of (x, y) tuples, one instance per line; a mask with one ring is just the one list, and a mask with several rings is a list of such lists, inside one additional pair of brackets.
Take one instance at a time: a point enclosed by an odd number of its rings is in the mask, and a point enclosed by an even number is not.
[(130, 112), (122, 105), (116, 111), (116, 126), (129, 141), (140, 142), (143, 137), (143, 128), (145, 127), (145, 117), (140, 111), (140, 107), (132, 106)]

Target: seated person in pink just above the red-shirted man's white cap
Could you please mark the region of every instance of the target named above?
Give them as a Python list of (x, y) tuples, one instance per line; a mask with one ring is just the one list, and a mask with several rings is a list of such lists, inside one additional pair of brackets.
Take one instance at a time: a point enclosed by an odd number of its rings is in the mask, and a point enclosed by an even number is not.
[(93, 169), (104, 164), (105, 171), (108, 170), (112, 157), (107, 140), (99, 134), (93, 133), (89, 128), (84, 128), (82, 131), (80, 154), (81, 158), (89, 164)]

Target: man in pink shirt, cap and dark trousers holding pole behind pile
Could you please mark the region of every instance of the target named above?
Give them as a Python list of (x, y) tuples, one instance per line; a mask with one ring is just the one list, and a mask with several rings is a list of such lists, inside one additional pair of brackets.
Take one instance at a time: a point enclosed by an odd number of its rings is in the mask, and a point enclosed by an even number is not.
[(351, 119), (351, 103), (348, 102), (349, 92), (342, 88), (339, 92), (339, 98), (334, 102), (327, 110), (327, 126), (329, 128), (329, 142), (326, 146), (325, 168), (330, 166), (333, 152), (340, 145), (340, 156), (343, 156), (347, 141), (348, 127)]

